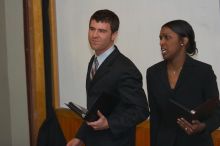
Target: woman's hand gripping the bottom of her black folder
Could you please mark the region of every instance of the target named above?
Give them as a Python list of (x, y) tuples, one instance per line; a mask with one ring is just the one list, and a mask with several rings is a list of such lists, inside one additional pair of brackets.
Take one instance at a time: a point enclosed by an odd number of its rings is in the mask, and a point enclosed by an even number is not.
[(202, 123), (198, 120), (193, 120), (192, 123), (190, 123), (184, 118), (177, 119), (177, 123), (188, 135), (199, 133), (206, 127), (205, 123)]

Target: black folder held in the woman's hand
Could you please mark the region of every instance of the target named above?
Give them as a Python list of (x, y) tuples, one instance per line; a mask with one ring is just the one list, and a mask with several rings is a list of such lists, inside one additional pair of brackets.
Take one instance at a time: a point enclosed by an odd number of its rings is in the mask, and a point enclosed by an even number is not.
[(210, 98), (193, 109), (187, 108), (171, 98), (169, 99), (169, 102), (171, 103), (171, 109), (175, 119), (183, 117), (191, 122), (192, 120), (203, 120), (208, 118), (219, 105), (219, 98)]

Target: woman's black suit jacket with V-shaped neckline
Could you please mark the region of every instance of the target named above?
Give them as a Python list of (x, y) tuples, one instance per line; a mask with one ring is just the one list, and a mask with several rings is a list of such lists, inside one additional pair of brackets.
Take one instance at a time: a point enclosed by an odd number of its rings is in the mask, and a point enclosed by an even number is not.
[(211, 132), (220, 126), (220, 107), (202, 122), (206, 129), (188, 136), (176, 124), (169, 108), (173, 98), (189, 108), (194, 108), (208, 98), (219, 96), (216, 76), (208, 64), (187, 56), (175, 89), (168, 81), (166, 61), (148, 68), (147, 89), (150, 106), (151, 146), (213, 146)]

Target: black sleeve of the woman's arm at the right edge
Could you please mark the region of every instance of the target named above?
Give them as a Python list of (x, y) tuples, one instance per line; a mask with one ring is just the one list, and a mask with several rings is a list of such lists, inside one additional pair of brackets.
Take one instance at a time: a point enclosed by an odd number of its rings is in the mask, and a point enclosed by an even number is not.
[[(216, 76), (211, 66), (206, 70), (203, 95), (206, 99), (219, 97)], [(220, 126), (220, 105), (217, 106), (213, 114), (204, 122), (206, 123), (206, 130), (208, 132), (212, 132)]]

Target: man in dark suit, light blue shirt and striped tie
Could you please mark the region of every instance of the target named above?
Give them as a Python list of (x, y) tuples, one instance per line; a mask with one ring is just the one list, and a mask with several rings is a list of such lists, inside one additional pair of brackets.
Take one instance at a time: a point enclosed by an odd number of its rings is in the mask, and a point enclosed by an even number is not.
[(110, 115), (97, 112), (99, 119), (84, 122), (67, 146), (134, 146), (136, 125), (148, 115), (142, 75), (114, 45), (119, 18), (110, 10), (98, 10), (90, 18), (88, 39), (95, 55), (86, 78), (87, 108), (103, 92), (117, 101)]

